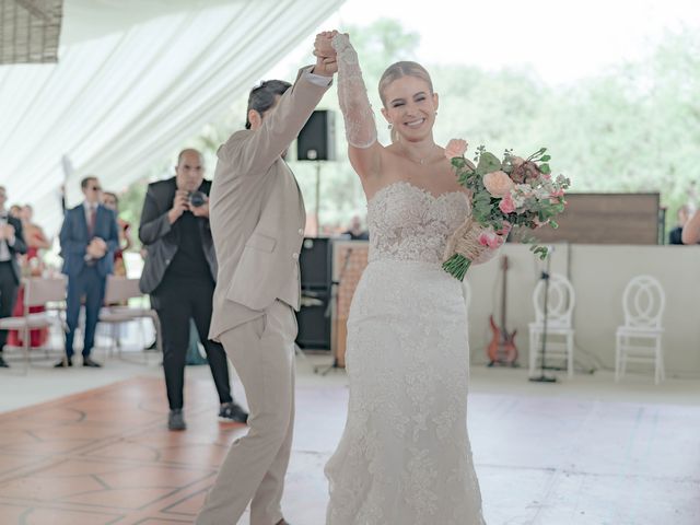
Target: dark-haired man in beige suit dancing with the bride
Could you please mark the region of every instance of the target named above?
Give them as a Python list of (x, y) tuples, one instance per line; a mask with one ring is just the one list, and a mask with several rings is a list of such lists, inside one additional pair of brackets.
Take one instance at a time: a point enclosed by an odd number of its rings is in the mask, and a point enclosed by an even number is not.
[(287, 523), (280, 502), (293, 434), (293, 310), (306, 218), (283, 154), (336, 71), (335, 62), (317, 59), (294, 85), (272, 80), (253, 90), (248, 129), (218, 152), (210, 223), (219, 278), (209, 336), (233, 362), (250, 415), (248, 433), (231, 447), (198, 525), (235, 525), (248, 502), (250, 525)]

